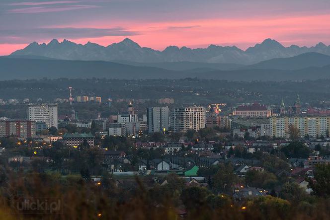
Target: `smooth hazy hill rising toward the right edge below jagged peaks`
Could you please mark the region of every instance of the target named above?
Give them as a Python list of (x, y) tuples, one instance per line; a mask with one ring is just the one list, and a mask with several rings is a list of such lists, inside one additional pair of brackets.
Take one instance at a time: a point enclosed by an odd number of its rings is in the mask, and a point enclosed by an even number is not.
[(290, 58), (277, 58), (262, 61), (258, 64), (242, 67), (241, 69), (299, 70), (308, 67), (324, 67), (327, 65), (330, 65), (330, 56), (311, 52)]

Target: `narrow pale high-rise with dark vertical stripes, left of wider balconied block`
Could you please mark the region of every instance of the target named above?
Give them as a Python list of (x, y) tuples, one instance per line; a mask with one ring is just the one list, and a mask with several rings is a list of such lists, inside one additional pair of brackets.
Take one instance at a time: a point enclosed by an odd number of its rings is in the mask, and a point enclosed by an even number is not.
[(147, 108), (148, 132), (163, 132), (169, 127), (169, 109), (167, 107)]

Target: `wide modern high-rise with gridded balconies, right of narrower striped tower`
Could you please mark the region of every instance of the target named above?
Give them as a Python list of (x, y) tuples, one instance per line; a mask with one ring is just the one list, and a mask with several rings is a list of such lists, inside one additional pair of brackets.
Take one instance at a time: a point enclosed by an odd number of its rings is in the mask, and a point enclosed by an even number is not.
[(173, 108), (170, 116), (170, 127), (173, 132), (198, 131), (205, 128), (204, 107)]

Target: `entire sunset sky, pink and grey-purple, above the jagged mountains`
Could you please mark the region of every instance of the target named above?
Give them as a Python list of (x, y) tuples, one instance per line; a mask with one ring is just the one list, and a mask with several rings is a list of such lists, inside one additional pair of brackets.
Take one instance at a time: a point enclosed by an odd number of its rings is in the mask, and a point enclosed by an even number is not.
[(330, 44), (329, 0), (1, 0), (0, 55), (57, 38), (107, 46), (130, 38), (164, 50)]

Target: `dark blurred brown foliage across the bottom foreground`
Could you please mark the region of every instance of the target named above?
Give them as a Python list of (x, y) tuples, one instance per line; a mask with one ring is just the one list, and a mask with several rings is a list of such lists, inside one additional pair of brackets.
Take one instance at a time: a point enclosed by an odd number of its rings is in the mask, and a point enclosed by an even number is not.
[[(330, 219), (330, 200), (327, 198), (289, 202), (264, 196), (235, 201), (226, 194), (215, 195), (203, 187), (187, 186), (175, 174), (167, 175), (165, 180), (166, 184), (148, 186), (146, 183), (152, 182), (152, 177), (123, 180), (105, 173), (102, 180), (95, 182), (80, 175), (12, 172), (1, 167), (0, 219)], [(124, 181), (126, 183), (122, 184)], [(57, 204), (53, 206), (52, 201)], [(31, 202), (41, 204), (22, 211), (22, 206)]]

